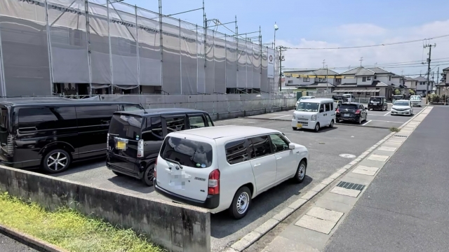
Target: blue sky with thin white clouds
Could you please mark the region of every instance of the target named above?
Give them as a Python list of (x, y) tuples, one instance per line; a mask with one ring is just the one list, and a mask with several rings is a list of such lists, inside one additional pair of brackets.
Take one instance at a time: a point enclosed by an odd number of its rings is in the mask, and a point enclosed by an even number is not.
[[(420, 40), (371, 48), (340, 50), (294, 50), (283, 52), (285, 71), (293, 69), (328, 68), (343, 72), (352, 67), (381, 66), (396, 74), (427, 73), (425, 62), (431, 50), (431, 71), (440, 72), (449, 66), (449, 36), (423, 41), (424, 38), (449, 35), (448, 0), (204, 0), (208, 20), (233, 22), (237, 16), (239, 34), (262, 30), (263, 43), (274, 41), (288, 48), (335, 48), (376, 45)], [(157, 0), (125, 0), (158, 12)], [(201, 8), (202, 0), (162, 0), (162, 13), (170, 15)], [(203, 10), (173, 16), (203, 25)], [(234, 23), (218, 31), (233, 34)], [(253, 36), (253, 35), (252, 35)], [(257, 36), (257, 34), (255, 34)], [(363, 61), (360, 62), (361, 57)], [(424, 64), (421, 64), (424, 62)], [(398, 63), (398, 64), (391, 64)]]

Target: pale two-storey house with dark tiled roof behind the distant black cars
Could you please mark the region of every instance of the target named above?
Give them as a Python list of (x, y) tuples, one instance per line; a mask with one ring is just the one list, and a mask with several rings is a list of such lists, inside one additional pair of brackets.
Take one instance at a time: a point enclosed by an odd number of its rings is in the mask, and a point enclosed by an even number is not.
[[(380, 67), (363, 66), (340, 73), (342, 84), (335, 87), (334, 92), (354, 94), (354, 97), (393, 95), (393, 88), (401, 86), (401, 78)], [(394, 78), (393, 78), (394, 77)], [(401, 76), (402, 77), (402, 76)]]

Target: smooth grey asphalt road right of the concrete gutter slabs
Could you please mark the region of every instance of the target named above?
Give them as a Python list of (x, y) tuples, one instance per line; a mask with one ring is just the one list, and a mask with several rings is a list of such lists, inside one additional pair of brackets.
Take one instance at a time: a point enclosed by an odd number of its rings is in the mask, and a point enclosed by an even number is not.
[(449, 109), (435, 106), (375, 177), (326, 251), (448, 251)]

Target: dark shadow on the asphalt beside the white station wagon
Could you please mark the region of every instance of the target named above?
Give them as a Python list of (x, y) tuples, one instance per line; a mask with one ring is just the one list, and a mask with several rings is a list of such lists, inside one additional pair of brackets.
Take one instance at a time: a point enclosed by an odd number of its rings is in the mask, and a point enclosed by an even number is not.
[[(293, 183), (293, 181), (285, 181), (279, 186), (267, 190), (266, 192), (258, 195), (251, 201), (248, 214), (240, 220), (235, 220), (229, 216), (227, 211), (222, 211), (217, 214), (210, 215), (210, 236), (215, 238), (223, 238), (228, 235), (232, 235), (234, 232), (245, 228), (258, 218), (266, 215), (269, 211), (272, 211), (279, 204), (282, 204), (293, 195), (300, 195), (305, 192), (300, 192), (304, 187), (309, 185), (313, 179), (307, 176), (300, 184)], [(257, 227), (254, 227), (257, 228)]]

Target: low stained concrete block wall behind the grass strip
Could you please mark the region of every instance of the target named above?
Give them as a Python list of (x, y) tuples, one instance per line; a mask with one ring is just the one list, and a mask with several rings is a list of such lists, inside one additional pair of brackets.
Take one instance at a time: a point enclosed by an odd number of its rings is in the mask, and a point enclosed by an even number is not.
[(210, 251), (210, 213), (206, 209), (148, 200), (4, 166), (0, 166), (0, 190), (46, 209), (68, 206), (112, 225), (131, 228), (168, 251)]

